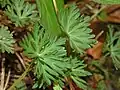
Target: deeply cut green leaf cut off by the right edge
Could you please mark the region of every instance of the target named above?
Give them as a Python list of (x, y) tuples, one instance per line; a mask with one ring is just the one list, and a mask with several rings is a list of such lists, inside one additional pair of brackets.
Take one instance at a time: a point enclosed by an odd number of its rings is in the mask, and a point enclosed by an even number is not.
[(107, 33), (103, 52), (106, 56), (112, 58), (116, 69), (120, 69), (120, 32), (114, 32), (114, 26), (109, 25), (108, 28), (109, 32)]

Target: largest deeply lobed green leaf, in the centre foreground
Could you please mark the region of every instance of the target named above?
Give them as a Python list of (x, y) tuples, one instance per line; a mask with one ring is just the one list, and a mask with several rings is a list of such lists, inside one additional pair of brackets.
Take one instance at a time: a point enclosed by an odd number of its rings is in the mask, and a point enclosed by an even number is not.
[(35, 75), (38, 80), (36, 86), (39, 88), (51, 85), (51, 82), (64, 76), (64, 70), (68, 65), (64, 59), (66, 50), (62, 46), (65, 39), (49, 37), (49, 34), (36, 24), (34, 31), (25, 36), (20, 43), (24, 48), (24, 54), (35, 62)]

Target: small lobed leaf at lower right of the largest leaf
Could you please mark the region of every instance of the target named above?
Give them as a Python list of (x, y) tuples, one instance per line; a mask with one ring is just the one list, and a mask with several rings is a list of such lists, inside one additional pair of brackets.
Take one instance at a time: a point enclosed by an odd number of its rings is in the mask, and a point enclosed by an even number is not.
[(85, 70), (87, 65), (77, 58), (70, 58), (69, 61), (71, 66), (69, 70), (66, 71), (66, 77), (70, 77), (79, 88), (86, 90), (87, 82), (82, 78), (91, 75), (90, 72)]

